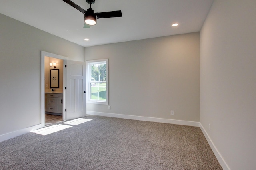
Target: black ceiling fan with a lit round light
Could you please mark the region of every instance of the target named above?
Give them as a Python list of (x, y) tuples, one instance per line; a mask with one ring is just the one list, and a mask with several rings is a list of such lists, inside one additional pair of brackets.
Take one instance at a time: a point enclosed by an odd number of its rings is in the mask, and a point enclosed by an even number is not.
[(63, 1), (66, 2), (67, 4), (73, 6), (74, 8), (76, 8), (77, 10), (79, 10), (80, 12), (82, 12), (84, 14), (84, 22), (85, 22), (84, 28), (90, 28), (90, 26), (95, 25), (97, 23), (97, 18), (100, 19), (100, 18), (112, 18), (112, 17), (121, 17), (122, 16), (122, 12), (120, 10), (119, 11), (94, 13), (94, 10), (92, 10), (91, 7), (92, 7), (92, 4), (95, 3), (95, 0), (86, 0), (86, 2), (88, 4), (90, 4), (90, 8), (88, 8), (87, 11), (70, 0), (63, 0)]

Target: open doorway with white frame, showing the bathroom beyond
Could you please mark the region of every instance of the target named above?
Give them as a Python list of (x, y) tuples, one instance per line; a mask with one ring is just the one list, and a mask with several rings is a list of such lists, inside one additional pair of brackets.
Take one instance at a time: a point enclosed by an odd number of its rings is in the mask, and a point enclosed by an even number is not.
[(66, 107), (66, 98), (63, 88), (64, 82), (66, 81), (63, 61), (66, 59), (68, 59), (68, 57), (41, 51), (42, 127), (53, 125), (59, 121), (66, 120), (64, 110)]

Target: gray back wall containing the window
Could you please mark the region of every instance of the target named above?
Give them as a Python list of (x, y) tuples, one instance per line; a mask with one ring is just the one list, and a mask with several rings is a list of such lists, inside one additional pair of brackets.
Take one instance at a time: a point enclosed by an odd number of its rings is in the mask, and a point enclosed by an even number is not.
[(105, 58), (111, 110), (88, 111), (199, 122), (198, 32), (85, 48), (86, 60)]

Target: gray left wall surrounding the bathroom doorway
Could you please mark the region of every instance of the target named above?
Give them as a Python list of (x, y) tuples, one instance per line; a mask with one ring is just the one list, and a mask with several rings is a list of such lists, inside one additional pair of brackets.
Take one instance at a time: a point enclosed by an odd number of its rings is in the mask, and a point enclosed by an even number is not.
[(40, 51), (84, 61), (84, 47), (0, 14), (0, 135), (41, 123)]

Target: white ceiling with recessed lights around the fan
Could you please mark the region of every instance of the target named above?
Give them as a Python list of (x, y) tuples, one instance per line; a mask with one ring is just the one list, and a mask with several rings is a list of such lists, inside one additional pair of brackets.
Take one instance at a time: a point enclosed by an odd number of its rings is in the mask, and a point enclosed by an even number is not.
[[(87, 10), (86, 0), (72, 0)], [(213, 0), (95, 0), (95, 12), (122, 10), (83, 28), (84, 15), (62, 0), (0, 0), (0, 13), (84, 47), (200, 31)], [(172, 27), (173, 23), (179, 23)], [(85, 41), (84, 38), (89, 38)]]

